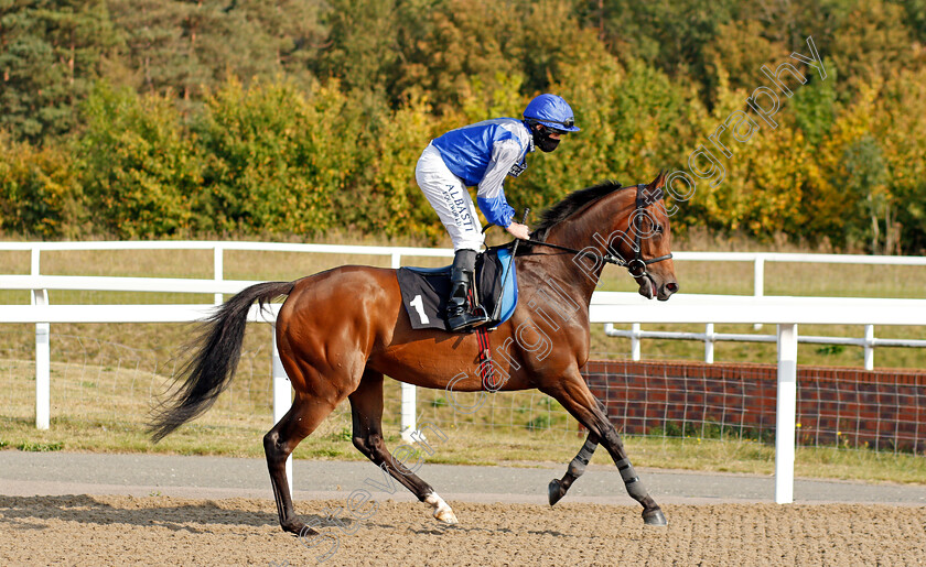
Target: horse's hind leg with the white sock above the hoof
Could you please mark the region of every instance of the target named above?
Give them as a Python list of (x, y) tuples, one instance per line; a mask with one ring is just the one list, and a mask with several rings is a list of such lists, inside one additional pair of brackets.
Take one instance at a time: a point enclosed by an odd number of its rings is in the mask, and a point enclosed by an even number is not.
[(383, 374), (364, 372), (360, 385), (349, 396), (354, 419), (354, 447), (376, 466), (398, 480), (421, 502), (434, 509), (434, 517), (446, 524), (457, 523), (456, 515), (430, 484), (418, 478), (388, 450), (383, 439)]

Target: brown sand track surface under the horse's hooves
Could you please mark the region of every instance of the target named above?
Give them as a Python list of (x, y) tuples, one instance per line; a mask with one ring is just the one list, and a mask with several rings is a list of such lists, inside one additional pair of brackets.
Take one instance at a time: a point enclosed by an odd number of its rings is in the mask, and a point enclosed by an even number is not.
[(450, 504), (455, 527), (416, 502), (357, 521), (299, 501), (324, 534), (300, 541), (265, 499), (0, 497), (0, 565), (926, 565), (922, 506), (676, 504), (649, 527), (637, 506)]

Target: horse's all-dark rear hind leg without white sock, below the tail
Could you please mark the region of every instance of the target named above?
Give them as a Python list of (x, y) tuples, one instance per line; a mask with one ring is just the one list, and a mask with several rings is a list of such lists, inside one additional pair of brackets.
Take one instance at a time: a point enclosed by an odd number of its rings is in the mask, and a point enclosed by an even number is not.
[(263, 436), (263, 452), (267, 456), (267, 468), (270, 470), (277, 514), (280, 516), (280, 527), (286, 532), (297, 535), (315, 533), (295, 515), (287, 482), (287, 458), (302, 439), (315, 430), (332, 410), (334, 405), (325, 403), (324, 400), (306, 400), (297, 394), (289, 412)]

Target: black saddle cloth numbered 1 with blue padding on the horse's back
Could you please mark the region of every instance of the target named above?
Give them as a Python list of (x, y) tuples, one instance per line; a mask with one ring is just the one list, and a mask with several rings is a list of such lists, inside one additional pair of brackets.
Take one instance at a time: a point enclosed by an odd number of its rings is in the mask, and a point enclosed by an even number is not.
[[(508, 266), (512, 274), (507, 275)], [(413, 329), (449, 330), (446, 325), (446, 299), (450, 295), (450, 266), (399, 268), (396, 271), (402, 304), (408, 312)], [(505, 293), (502, 293), (502, 286)], [(517, 274), (512, 262), (509, 247), (489, 248), (476, 257), (475, 292), (480, 305), (489, 316), (489, 321), (478, 329), (495, 328), (508, 320), (518, 302)], [(500, 307), (496, 309), (498, 302)], [(493, 319), (496, 310), (498, 317)], [(476, 329), (470, 329), (473, 331)]]

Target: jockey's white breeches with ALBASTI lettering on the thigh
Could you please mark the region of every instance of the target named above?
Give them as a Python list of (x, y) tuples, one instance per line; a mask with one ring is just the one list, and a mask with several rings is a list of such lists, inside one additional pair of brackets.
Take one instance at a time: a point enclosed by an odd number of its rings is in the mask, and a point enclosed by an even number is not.
[(441, 153), (433, 145), (428, 144), (421, 153), (414, 167), (414, 178), (450, 233), (453, 251), (478, 252), (485, 235), (482, 233), (476, 207), (463, 179), (448, 168)]

